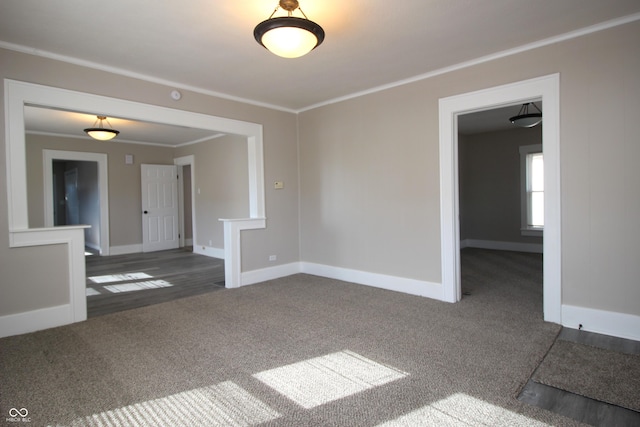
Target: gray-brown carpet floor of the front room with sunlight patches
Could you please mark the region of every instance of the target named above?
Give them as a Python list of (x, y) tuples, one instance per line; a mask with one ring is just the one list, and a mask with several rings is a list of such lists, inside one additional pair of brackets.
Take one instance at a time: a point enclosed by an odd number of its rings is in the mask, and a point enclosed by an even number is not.
[(578, 425), (516, 399), (560, 329), (541, 259), (478, 256), (457, 304), (298, 274), (0, 339), (2, 421)]

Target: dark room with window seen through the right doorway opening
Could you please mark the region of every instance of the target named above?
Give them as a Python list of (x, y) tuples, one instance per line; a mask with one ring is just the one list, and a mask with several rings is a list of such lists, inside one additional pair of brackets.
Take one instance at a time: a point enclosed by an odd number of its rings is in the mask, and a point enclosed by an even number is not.
[(543, 124), (513, 125), (508, 118), (520, 106), (457, 117), (461, 291), (465, 298), (505, 289), (541, 312), (543, 230), (528, 226), (521, 153), (535, 148), (542, 157)]

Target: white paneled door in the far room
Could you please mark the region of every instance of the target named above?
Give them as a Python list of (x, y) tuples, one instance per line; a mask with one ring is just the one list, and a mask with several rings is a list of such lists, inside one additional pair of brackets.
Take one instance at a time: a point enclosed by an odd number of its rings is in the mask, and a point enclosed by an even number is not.
[(142, 251), (175, 249), (178, 231), (178, 172), (174, 165), (142, 166)]

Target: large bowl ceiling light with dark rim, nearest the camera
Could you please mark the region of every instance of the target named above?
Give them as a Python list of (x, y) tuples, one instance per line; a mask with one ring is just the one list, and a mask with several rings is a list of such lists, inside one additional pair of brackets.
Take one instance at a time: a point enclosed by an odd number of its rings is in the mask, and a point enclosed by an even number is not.
[[(274, 18), (278, 8), (286, 10), (287, 16)], [(292, 16), (296, 9), (300, 10), (304, 18)], [(324, 40), (324, 30), (307, 18), (300, 9), (298, 0), (280, 0), (269, 19), (256, 25), (253, 36), (258, 43), (278, 56), (298, 58), (320, 46)]]

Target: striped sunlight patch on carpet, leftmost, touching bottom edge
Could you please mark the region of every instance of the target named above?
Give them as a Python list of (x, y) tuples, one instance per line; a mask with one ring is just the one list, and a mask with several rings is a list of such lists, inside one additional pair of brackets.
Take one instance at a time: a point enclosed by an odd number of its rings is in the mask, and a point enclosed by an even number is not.
[(251, 426), (281, 415), (231, 381), (76, 419), (73, 427)]

